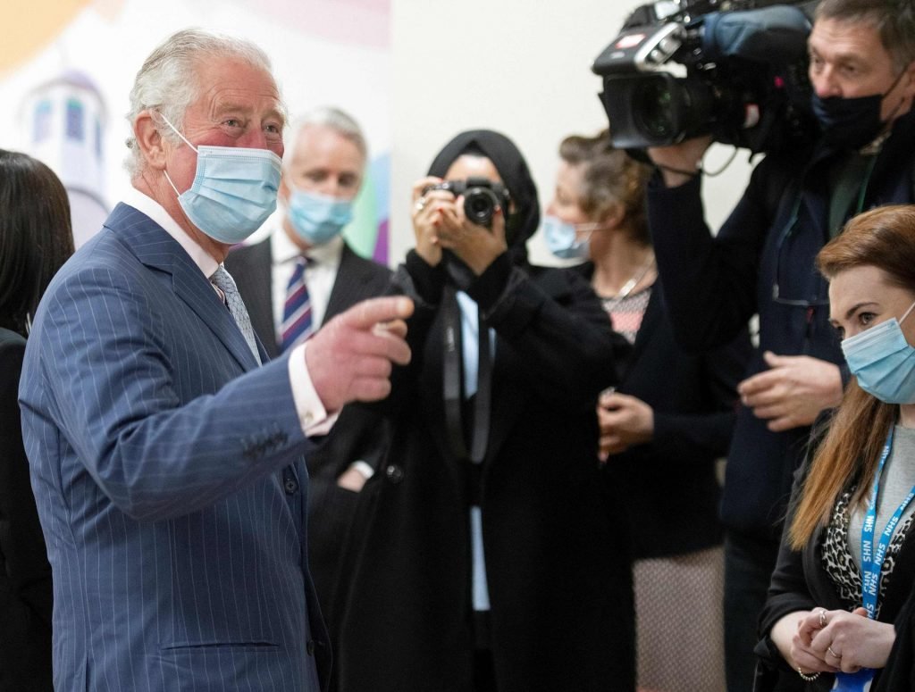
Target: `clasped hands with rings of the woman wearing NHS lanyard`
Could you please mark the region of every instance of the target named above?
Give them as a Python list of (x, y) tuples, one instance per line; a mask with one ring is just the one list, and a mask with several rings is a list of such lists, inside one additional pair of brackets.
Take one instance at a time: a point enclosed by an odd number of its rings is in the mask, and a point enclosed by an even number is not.
[(791, 639), (791, 658), (802, 672), (856, 673), (887, 665), (896, 638), (892, 624), (869, 619), (864, 608), (816, 608), (798, 614), (802, 617)]

